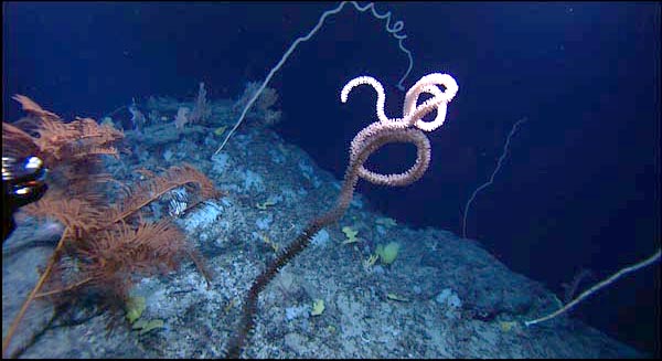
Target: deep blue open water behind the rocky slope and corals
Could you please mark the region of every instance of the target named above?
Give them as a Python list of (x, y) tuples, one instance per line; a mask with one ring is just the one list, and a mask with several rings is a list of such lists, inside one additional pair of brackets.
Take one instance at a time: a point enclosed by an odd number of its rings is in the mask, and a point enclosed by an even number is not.
[[(236, 98), (263, 81), (331, 2), (3, 2), (3, 120), (24, 94), (64, 118), (102, 117), (132, 97)], [(414, 55), (405, 85), (431, 72), (460, 91), (445, 126), (430, 134), (433, 163), (404, 189), (360, 183), (401, 223), (461, 233), (513, 270), (557, 294), (581, 268), (590, 284), (660, 246), (660, 4), (655, 2), (380, 3), (405, 22)], [(339, 92), (372, 75), (386, 113), (402, 113), (395, 85), (408, 61), (384, 22), (353, 7), (302, 43), (269, 86), (280, 95), (276, 130), (342, 178), (354, 135), (375, 120), (374, 93)], [(355, 94), (354, 94), (355, 93)], [(278, 106), (277, 106), (278, 107)], [(248, 126), (248, 125), (246, 125)], [(232, 141), (232, 140), (231, 140)], [(403, 169), (413, 151), (386, 149), (371, 164)], [(600, 291), (573, 312), (659, 357), (660, 266)]]

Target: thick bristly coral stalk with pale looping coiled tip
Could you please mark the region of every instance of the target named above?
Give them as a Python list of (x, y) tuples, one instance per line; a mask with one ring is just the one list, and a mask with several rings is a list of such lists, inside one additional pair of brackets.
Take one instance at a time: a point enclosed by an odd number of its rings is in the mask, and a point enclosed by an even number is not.
[[(370, 76), (361, 76), (350, 81), (341, 92), (342, 103), (348, 100), (348, 95), (353, 87), (363, 84), (371, 85), (377, 92), (376, 112), (380, 120), (365, 127), (352, 140), (350, 162), (335, 205), (325, 214), (313, 219), (303, 232), (265, 268), (250, 286), (242, 308), (239, 330), (227, 344), (227, 357), (229, 358), (234, 359), (241, 355), (244, 343), (255, 327), (259, 294), (274, 279), (282, 266), (293, 259), (301, 251), (306, 249), (310, 244), (310, 240), (321, 229), (338, 222), (342, 217), (350, 206), (359, 178), (363, 178), (375, 184), (404, 187), (423, 177), (429, 166), (430, 142), (421, 130), (431, 131), (444, 124), (448, 102), (458, 92), (456, 81), (448, 74), (438, 73), (421, 77), (409, 88), (405, 96), (403, 118), (395, 119), (389, 119), (384, 114), (384, 88), (378, 81)], [(441, 91), (438, 85), (445, 86), (446, 89)], [(420, 105), (416, 105), (423, 93), (431, 94), (433, 97)], [(423, 117), (434, 110), (437, 110), (435, 120), (424, 121)], [(380, 174), (365, 169), (363, 164), (367, 158), (377, 149), (391, 142), (414, 144), (417, 148), (414, 166), (407, 171), (397, 174)]]

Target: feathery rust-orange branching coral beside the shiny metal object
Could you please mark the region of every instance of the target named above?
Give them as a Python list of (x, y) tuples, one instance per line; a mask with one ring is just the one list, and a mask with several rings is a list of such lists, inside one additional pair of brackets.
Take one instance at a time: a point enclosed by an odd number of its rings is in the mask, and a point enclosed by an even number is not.
[[(22, 210), (57, 220), (64, 232), (2, 341), (3, 357), (35, 298), (63, 305), (96, 295), (106, 308), (122, 310), (137, 276), (177, 269), (184, 257), (194, 261), (209, 283), (209, 272), (182, 232), (169, 219), (146, 223), (140, 214), (145, 205), (179, 187), (193, 194), (189, 208), (221, 195), (204, 174), (190, 164), (171, 167), (160, 176), (140, 170), (143, 181), (129, 187), (103, 173), (100, 167), (102, 155), (118, 157), (121, 131), (89, 118), (65, 123), (26, 96), (13, 98), (29, 117), (2, 124), (3, 148), (34, 153), (51, 169), (49, 192)], [(117, 184), (124, 197), (111, 203), (107, 194), (121, 193)]]

